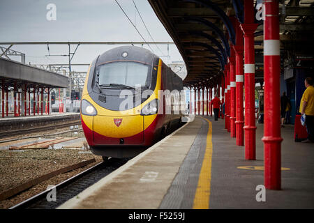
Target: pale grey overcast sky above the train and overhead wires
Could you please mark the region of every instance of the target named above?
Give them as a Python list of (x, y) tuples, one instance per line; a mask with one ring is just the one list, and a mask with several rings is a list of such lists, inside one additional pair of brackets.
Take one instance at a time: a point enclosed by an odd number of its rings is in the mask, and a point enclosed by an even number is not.
[[(158, 20), (147, 0), (134, 0), (137, 8), (156, 41), (172, 41)], [(130, 20), (135, 22), (145, 40), (152, 41), (136, 14), (132, 0), (118, 0)], [(57, 20), (48, 21), (48, 3), (57, 6)], [(0, 42), (23, 41), (142, 41), (114, 0), (1, 0)], [(90, 63), (113, 45), (80, 45), (72, 63)], [(149, 49), (149, 47), (145, 46)], [(161, 52), (151, 45), (155, 54)], [(160, 45), (167, 54), (167, 45)], [(26, 54), (29, 63), (68, 63), (66, 56), (45, 56), (47, 45), (15, 45), (12, 47)], [(74, 47), (73, 47), (74, 50)], [(68, 54), (67, 45), (50, 45), (50, 54)], [(170, 45), (170, 59), (161, 57), (165, 63), (182, 61), (175, 45)], [(73, 68), (82, 70), (82, 68)]]

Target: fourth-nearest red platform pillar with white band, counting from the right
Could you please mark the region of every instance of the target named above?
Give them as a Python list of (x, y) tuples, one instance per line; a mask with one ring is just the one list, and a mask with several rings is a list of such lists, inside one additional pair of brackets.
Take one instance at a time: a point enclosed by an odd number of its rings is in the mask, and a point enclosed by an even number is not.
[(235, 58), (234, 49), (230, 47), (230, 136), (236, 137), (236, 82), (235, 82)]

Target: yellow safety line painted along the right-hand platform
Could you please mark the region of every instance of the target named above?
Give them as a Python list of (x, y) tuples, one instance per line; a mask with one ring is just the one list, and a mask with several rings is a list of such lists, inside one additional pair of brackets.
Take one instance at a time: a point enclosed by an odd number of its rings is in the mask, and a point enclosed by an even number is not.
[[(202, 117), (200, 117), (202, 118)], [(211, 194), (211, 157), (213, 155), (213, 143), (211, 141), (212, 125), (209, 123), (206, 140), (206, 150), (202, 163), (202, 169), (198, 178), (198, 184), (195, 192), (193, 209), (209, 209), (209, 195)]]

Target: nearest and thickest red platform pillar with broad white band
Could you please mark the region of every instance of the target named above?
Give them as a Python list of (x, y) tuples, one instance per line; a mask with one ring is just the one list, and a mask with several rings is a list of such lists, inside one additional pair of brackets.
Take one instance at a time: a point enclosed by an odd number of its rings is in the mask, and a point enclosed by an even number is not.
[(264, 186), (281, 189), (281, 116), (278, 1), (264, 1)]

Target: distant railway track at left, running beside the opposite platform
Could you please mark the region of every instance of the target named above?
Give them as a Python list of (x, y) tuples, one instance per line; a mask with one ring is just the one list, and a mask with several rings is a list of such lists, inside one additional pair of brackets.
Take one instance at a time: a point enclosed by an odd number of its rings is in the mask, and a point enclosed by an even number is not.
[(63, 124), (57, 124), (57, 125), (45, 125), (45, 126), (40, 126), (40, 127), (34, 127), (34, 128), (27, 128), (24, 130), (11, 130), (11, 131), (6, 131), (6, 132), (0, 132), (0, 139), (8, 137), (8, 136), (14, 136), (14, 135), (19, 135), (19, 134), (28, 134), (31, 132), (40, 132), (43, 130), (52, 130), (54, 128), (64, 128), (68, 127), (71, 125), (80, 125), (81, 121), (73, 121), (70, 123), (63, 123)]

